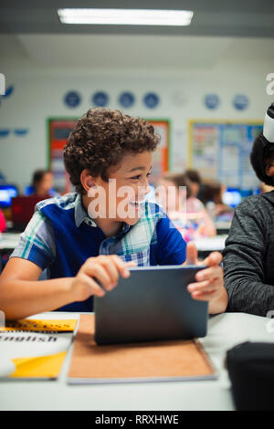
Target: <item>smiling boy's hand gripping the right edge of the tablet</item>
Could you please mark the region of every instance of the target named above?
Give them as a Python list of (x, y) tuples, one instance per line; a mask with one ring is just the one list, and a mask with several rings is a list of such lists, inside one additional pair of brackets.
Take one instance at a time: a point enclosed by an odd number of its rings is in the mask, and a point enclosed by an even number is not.
[(195, 275), (196, 283), (190, 283), (187, 290), (192, 298), (202, 301), (213, 301), (221, 297), (224, 289), (223, 268), (219, 266), (223, 256), (219, 252), (212, 252), (204, 261), (198, 261), (198, 252), (194, 243), (186, 246), (186, 261), (184, 265), (205, 265), (205, 269)]

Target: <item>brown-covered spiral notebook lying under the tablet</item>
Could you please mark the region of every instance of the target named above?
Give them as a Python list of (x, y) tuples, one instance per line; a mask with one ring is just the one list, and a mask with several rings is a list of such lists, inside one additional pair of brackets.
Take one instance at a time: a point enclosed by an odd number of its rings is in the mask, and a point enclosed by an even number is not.
[(94, 315), (80, 316), (68, 371), (69, 384), (216, 378), (216, 370), (199, 340), (99, 346), (94, 340)]

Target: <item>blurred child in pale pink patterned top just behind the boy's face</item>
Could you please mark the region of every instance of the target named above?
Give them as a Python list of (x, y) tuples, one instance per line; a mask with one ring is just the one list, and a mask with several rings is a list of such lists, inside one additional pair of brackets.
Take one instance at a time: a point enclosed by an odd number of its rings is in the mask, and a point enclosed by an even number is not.
[(216, 235), (216, 227), (204, 204), (191, 195), (185, 174), (165, 173), (159, 181), (158, 197), (186, 242), (202, 236)]

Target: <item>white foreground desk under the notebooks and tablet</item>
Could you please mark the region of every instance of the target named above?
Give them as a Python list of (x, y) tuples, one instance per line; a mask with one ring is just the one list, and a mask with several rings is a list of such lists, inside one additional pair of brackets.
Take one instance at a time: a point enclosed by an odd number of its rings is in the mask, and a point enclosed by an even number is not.
[(219, 378), (199, 382), (144, 382), (77, 385), (66, 382), (73, 345), (58, 381), (0, 382), (0, 410), (234, 410), (230, 382), (224, 367), (226, 351), (245, 341), (274, 341), (269, 319), (243, 313), (225, 313), (208, 320), (201, 342)]

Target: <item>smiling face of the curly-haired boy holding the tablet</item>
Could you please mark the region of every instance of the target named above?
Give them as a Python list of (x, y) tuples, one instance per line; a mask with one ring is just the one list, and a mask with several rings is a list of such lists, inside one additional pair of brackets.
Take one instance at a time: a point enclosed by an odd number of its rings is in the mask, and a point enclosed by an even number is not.
[[(95, 208), (100, 212), (95, 221), (104, 232), (108, 230), (112, 235), (112, 230), (115, 234), (123, 222), (137, 223), (145, 195), (150, 192), (151, 170), (152, 152), (126, 153), (118, 165), (109, 169), (109, 182), (100, 176), (91, 178), (83, 203), (91, 218), (95, 217)], [(84, 181), (88, 181), (88, 177)]]

